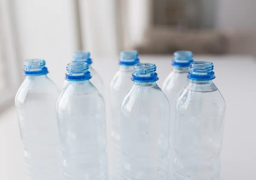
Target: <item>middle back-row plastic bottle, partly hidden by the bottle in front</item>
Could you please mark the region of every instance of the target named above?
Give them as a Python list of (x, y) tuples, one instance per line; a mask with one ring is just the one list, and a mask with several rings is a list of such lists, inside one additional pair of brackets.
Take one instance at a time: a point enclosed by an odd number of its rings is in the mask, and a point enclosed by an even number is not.
[(125, 93), (133, 85), (131, 74), (134, 64), (139, 63), (137, 51), (123, 51), (120, 53), (120, 68), (111, 81), (111, 145), (110, 145), (110, 177), (111, 180), (122, 178), (122, 150), (121, 150), (121, 102)]

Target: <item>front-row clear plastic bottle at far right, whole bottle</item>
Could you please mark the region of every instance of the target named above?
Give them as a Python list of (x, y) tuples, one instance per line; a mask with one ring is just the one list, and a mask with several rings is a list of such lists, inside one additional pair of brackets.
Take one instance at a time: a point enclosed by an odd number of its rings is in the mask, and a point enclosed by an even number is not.
[(225, 101), (212, 83), (212, 62), (190, 67), (176, 104), (173, 180), (219, 180)]

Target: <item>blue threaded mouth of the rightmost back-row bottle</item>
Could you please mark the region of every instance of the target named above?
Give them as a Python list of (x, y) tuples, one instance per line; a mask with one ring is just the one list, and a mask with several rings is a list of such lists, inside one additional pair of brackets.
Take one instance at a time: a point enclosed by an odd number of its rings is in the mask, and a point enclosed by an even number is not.
[(176, 51), (173, 53), (172, 65), (177, 67), (189, 67), (193, 62), (193, 53), (191, 51)]

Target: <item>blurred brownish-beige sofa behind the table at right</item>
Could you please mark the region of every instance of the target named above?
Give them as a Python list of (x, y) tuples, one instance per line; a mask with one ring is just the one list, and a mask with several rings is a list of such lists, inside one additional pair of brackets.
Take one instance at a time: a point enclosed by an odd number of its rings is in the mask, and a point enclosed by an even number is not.
[(256, 31), (147, 29), (137, 46), (140, 54), (172, 54), (190, 50), (195, 54), (250, 54), (256, 56)]

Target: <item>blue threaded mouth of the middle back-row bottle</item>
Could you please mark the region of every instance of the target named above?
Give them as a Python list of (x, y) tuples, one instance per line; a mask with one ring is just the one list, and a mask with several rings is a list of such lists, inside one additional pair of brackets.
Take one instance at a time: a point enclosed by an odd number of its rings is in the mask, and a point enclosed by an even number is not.
[(120, 52), (119, 64), (124, 66), (134, 66), (140, 62), (138, 58), (139, 53), (137, 51), (122, 51)]

